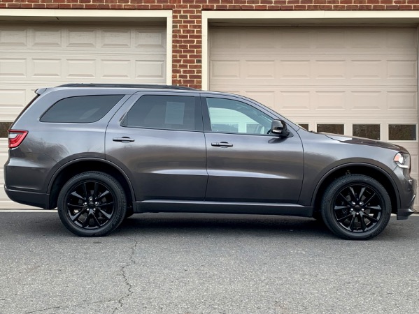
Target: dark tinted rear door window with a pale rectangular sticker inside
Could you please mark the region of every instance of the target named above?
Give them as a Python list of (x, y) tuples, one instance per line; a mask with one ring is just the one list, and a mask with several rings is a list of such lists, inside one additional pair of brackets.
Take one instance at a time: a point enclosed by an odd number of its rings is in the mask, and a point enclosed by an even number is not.
[(202, 130), (199, 98), (194, 96), (145, 95), (129, 110), (122, 126)]

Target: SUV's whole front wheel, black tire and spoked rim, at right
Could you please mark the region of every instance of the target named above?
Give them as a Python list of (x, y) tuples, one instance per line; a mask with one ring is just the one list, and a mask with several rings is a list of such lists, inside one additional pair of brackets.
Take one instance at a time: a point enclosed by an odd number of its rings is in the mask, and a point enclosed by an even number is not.
[(348, 174), (332, 182), (322, 197), (322, 218), (338, 237), (372, 239), (388, 224), (391, 201), (387, 190), (363, 174)]

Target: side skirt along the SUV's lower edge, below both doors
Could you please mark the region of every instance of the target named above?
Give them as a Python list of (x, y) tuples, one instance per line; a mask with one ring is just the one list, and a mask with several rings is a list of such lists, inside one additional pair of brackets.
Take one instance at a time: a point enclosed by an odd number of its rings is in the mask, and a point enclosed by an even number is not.
[(145, 200), (134, 203), (134, 213), (214, 213), (312, 217), (313, 207), (298, 204)]

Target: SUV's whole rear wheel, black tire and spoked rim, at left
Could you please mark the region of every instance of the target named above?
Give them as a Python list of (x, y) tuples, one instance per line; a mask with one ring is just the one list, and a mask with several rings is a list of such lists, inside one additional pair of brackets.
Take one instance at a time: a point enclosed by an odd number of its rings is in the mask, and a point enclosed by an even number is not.
[(103, 172), (83, 172), (69, 179), (58, 195), (58, 215), (80, 237), (102, 237), (115, 230), (127, 212), (125, 191)]

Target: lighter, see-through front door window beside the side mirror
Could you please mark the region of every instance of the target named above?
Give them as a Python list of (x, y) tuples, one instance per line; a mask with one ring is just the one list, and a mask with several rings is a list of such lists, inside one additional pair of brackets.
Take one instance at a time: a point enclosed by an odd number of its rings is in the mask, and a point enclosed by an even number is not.
[(211, 130), (221, 133), (267, 134), (272, 118), (241, 101), (206, 98)]

